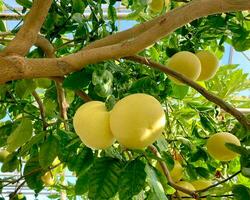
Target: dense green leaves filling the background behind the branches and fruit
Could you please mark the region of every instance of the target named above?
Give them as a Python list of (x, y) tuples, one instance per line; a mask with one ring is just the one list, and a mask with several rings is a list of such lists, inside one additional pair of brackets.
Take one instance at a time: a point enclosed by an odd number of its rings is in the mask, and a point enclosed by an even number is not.
[[(29, 11), (32, 5), (30, 0), (16, 2), (23, 7), (22, 13)], [(124, 0), (122, 3), (132, 11), (127, 19), (136, 20), (137, 23), (185, 4), (171, 0), (162, 12), (153, 13), (147, 0)], [(118, 30), (116, 5), (115, 0), (53, 1), (40, 33), (51, 41), (58, 58), (75, 53)], [(21, 14), (6, 3), (5, 6)], [(104, 16), (104, 6), (107, 17)], [(2, 9), (3, 2), (0, 0)], [(82, 15), (87, 10), (90, 15)], [(225, 43), (237, 51), (248, 50), (249, 20), (247, 12), (203, 17), (180, 27), (140, 54), (166, 65), (168, 59), (178, 51), (206, 49), (222, 58)], [(1, 32), (15, 33), (20, 24), (13, 30), (7, 28), (0, 21)], [(27, 57), (41, 58), (44, 53), (39, 48), (32, 48)], [(249, 73), (239, 69), (237, 63), (221, 66), (213, 79), (199, 84), (236, 107), (250, 106), (249, 98), (237, 96), (239, 92), (250, 89)], [(44, 188), (41, 176), (51, 170), (56, 179), (52, 189), (58, 192), (65, 190), (68, 199), (75, 199), (76, 195), (94, 200), (171, 199), (175, 190), (153, 166), (157, 160), (162, 160), (172, 170), (174, 160), (180, 159), (184, 168), (183, 180), (189, 182), (197, 179), (218, 182), (223, 180), (222, 177), (241, 170), (237, 178), (209, 190), (210, 197), (207, 199), (220, 199), (211, 195), (250, 199), (249, 130), (189, 86), (176, 85), (161, 71), (124, 59), (88, 65), (65, 76), (62, 86), (69, 104), (65, 121), (61, 117), (54, 81), (29, 79), (0, 85), (0, 147), (12, 152), (1, 171), (23, 174), (22, 180), (35, 193)], [(44, 105), (46, 127), (32, 96), (34, 91)], [(92, 150), (84, 146), (72, 124), (76, 110), (84, 103), (75, 91), (85, 92), (91, 99), (105, 102), (109, 111), (117, 101), (132, 93), (147, 93), (156, 97), (162, 103), (167, 119), (163, 136), (155, 143), (162, 158), (157, 158), (148, 149), (129, 150), (118, 143), (105, 150)], [(222, 131), (231, 132), (240, 139), (241, 147), (227, 144), (229, 149), (239, 154), (239, 159), (219, 162), (208, 155), (206, 140), (210, 135)], [(51, 169), (56, 157), (62, 165)], [(69, 181), (64, 185), (61, 175), (64, 171), (74, 174), (76, 182)], [(0, 188), (1, 184), (6, 183), (4, 181), (0, 180)], [(59, 196), (55, 194), (48, 198), (58, 199)]]

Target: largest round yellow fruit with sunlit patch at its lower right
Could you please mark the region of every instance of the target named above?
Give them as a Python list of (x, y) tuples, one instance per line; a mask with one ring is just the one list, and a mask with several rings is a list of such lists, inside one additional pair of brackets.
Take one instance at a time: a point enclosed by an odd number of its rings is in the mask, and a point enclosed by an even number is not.
[(141, 149), (155, 142), (165, 123), (160, 102), (147, 94), (132, 94), (121, 99), (110, 113), (114, 137), (130, 149)]

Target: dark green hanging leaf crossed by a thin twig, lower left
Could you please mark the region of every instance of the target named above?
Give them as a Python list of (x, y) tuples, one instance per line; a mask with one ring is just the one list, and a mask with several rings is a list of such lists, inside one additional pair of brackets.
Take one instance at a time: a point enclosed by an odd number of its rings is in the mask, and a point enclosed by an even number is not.
[(25, 181), (28, 187), (36, 193), (43, 189), (43, 182), (41, 180), (41, 167), (39, 165), (38, 157), (31, 157), (24, 167)]

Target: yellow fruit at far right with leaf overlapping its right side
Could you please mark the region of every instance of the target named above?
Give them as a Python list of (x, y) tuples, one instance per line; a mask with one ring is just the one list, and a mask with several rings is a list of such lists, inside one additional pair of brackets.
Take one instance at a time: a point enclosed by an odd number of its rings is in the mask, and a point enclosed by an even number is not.
[(237, 153), (229, 150), (225, 143), (233, 143), (240, 146), (239, 139), (231, 133), (221, 132), (212, 135), (207, 141), (208, 153), (217, 160), (230, 161), (238, 156)]

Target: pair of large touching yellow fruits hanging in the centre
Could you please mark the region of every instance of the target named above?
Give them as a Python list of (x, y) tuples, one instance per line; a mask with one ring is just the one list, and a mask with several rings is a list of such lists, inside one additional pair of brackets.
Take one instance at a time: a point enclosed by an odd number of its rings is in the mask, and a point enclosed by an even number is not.
[(82, 142), (93, 149), (110, 147), (115, 140), (130, 149), (141, 149), (158, 139), (165, 127), (160, 102), (147, 94), (132, 94), (109, 112), (103, 102), (83, 104), (73, 125)]

